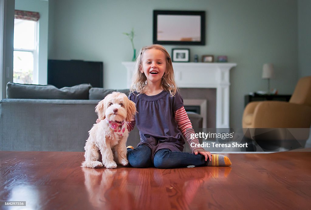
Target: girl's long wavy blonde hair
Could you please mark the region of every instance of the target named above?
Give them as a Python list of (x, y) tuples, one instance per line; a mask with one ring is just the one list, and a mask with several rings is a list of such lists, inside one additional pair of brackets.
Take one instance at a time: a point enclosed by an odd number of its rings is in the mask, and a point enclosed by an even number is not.
[(137, 93), (142, 94), (143, 88), (147, 84), (147, 78), (144, 73), (141, 73), (140, 70), (142, 68), (142, 56), (143, 53), (150, 49), (156, 49), (161, 50), (165, 54), (165, 61), (166, 61), (166, 69), (165, 73), (162, 77), (161, 81), (161, 87), (165, 91), (169, 92), (171, 96), (174, 96), (176, 92), (178, 91), (177, 85), (174, 80), (174, 70), (173, 70), (173, 64), (171, 57), (169, 56), (169, 53), (166, 51), (166, 49), (159, 44), (153, 44), (150, 46), (143, 47), (136, 58), (135, 61), (135, 69), (134, 69), (134, 75), (132, 77), (132, 85), (130, 88), (131, 92), (137, 91)]

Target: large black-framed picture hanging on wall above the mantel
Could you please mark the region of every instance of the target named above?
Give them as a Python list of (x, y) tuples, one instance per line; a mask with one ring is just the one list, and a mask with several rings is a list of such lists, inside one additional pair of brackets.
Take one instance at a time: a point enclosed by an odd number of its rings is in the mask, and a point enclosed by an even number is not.
[(153, 43), (205, 45), (205, 11), (154, 10)]

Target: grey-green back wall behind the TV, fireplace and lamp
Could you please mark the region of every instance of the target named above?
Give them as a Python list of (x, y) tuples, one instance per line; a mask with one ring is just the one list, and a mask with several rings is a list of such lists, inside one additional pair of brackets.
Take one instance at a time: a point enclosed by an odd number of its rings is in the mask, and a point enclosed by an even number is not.
[[(230, 126), (241, 127), (244, 95), (266, 90), (262, 65), (272, 62), (276, 78), (271, 87), (291, 94), (298, 80), (298, 14), (295, 0), (157, 0), (49, 1), (49, 59), (104, 62), (104, 86), (126, 87), (121, 64), (132, 58), (123, 32), (134, 27), (137, 50), (152, 44), (152, 13), (163, 10), (206, 11), (206, 45), (190, 48), (198, 54), (227, 55), (237, 63), (230, 75)], [(189, 70), (191, 71), (191, 70)]]

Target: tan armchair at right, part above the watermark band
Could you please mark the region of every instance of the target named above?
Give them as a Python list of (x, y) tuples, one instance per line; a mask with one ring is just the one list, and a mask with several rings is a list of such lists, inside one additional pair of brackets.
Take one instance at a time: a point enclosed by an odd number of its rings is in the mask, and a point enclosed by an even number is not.
[(310, 128), (311, 76), (301, 78), (289, 102), (248, 103), (242, 118), (243, 128)]

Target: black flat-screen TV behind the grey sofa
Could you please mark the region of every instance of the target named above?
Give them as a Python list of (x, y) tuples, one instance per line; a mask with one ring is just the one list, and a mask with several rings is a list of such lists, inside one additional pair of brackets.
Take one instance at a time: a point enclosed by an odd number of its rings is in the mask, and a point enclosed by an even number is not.
[(48, 84), (57, 88), (87, 83), (103, 87), (103, 62), (48, 60)]

